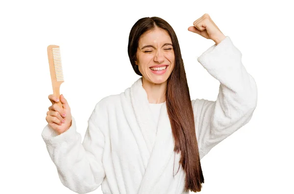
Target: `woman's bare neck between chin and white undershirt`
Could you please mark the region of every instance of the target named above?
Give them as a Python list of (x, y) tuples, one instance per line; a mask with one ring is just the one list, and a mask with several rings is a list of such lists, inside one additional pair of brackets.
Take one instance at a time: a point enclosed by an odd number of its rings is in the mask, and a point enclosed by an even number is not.
[(167, 81), (155, 84), (142, 77), (142, 85), (146, 90), (149, 103), (159, 104), (166, 101)]

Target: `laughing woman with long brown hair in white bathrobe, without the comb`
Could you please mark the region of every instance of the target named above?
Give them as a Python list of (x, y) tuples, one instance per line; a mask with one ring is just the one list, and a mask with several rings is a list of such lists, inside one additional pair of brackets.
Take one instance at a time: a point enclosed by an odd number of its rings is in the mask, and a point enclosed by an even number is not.
[(198, 57), (220, 81), (216, 101), (191, 101), (177, 37), (158, 17), (132, 27), (128, 55), (142, 77), (96, 104), (82, 144), (67, 100), (60, 96), (60, 109), (49, 95), (42, 137), (66, 187), (80, 194), (100, 185), (104, 194), (201, 190), (200, 159), (251, 119), (257, 88), (242, 53), (208, 14), (188, 30), (216, 43)]

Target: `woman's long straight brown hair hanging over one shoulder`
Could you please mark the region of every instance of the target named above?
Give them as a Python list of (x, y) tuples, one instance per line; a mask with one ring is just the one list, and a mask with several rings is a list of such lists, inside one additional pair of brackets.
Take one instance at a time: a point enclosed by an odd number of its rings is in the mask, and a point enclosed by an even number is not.
[(153, 30), (155, 27), (164, 29), (169, 33), (174, 50), (174, 69), (167, 82), (166, 105), (171, 121), (172, 135), (175, 140), (174, 151), (176, 153), (181, 151), (180, 164), (186, 172), (184, 190), (185, 192), (189, 190), (200, 192), (204, 178), (198, 152), (193, 108), (181, 50), (172, 26), (159, 17), (141, 18), (130, 31), (128, 55), (135, 73), (142, 76), (135, 64), (139, 39), (144, 33)]

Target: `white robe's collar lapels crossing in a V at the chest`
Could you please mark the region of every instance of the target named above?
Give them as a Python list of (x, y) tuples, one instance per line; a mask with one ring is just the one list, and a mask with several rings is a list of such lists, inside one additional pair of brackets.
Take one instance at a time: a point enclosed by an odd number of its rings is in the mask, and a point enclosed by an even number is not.
[(162, 172), (173, 156), (172, 128), (165, 103), (161, 107), (156, 126), (149, 108), (147, 93), (142, 86), (142, 77), (132, 85), (130, 92), (136, 120), (150, 153), (138, 194), (149, 194), (156, 187)]

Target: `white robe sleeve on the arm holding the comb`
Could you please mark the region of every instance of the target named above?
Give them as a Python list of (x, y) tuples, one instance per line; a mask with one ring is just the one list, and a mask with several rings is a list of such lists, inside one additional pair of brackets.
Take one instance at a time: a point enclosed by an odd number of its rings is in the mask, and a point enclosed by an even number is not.
[(98, 128), (96, 109), (98, 104), (88, 120), (83, 143), (81, 135), (76, 132), (73, 117), (71, 127), (60, 135), (49, 124), (42, 132), (42, 138), (62, 184), (78, 194), (96, 190), (105, 177), (102, 164), (104, 135)]

